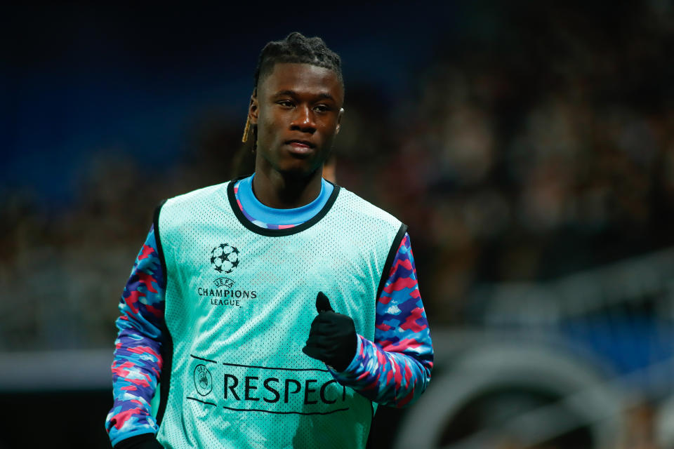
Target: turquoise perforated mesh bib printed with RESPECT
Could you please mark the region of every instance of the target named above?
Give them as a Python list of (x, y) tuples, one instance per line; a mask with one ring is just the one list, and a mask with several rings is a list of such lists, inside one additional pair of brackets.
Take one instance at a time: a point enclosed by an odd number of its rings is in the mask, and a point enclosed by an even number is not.
[(364, 448), (370, 401), (301, 348), (319, 291), (357, 333), (374, 337), (377, 289), (401, 223), (336, 187), (318, 221), (256, 229), (231, 187), (178, 196), (159, 214), (173, 338), (159, 441), (176, 449)]

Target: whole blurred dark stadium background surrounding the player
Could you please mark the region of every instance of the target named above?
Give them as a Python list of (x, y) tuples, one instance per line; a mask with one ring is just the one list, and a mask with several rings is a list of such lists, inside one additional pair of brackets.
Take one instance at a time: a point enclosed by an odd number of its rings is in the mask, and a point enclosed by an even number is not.
[(432, 329), (371, 448), (674, 448), (674, 4), (538, 3), (6, 6), (0, 448), (109, 447), (154, 205), (249, 170), (294, 30), (343, 58), (337, 180), (410, 226)]

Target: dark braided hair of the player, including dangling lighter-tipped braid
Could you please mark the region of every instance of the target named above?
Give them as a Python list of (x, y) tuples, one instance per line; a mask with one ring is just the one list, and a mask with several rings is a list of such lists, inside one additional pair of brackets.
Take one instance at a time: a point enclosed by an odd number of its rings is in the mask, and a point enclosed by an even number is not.
[[(255, 68), (253, 95), (257, 92), (261, 81), (269, 76), (274, 66), (282, 63), (291, 64), (310, 64), (316, 67), (330, 69), (337, 75), (337, 79), (344, 87), (342, 78), (341, 59), (339, 55), (326, 46), (323, 39), (319, 37), (305, 37), (298, 32), (292, 32), (282, 41), (271, 41), (260, 51), (258, 66)], [(250, 119), (246, 120), (246, 128), (242, 142), (248, 140), (251, 128)], [(253, 128), (253, 152), (257, 146), (257, 127)]]

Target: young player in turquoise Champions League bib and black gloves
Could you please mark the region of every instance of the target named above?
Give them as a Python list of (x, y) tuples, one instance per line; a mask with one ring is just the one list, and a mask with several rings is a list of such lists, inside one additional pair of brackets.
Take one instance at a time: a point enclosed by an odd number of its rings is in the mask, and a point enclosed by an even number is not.
[(254, 175), (157, 209), (119, 305), (115, 448), (364, 448), (377, 404), (424, 391), (407, 227), (321, 176), (343, 98), (321, 39), (268, 43)]

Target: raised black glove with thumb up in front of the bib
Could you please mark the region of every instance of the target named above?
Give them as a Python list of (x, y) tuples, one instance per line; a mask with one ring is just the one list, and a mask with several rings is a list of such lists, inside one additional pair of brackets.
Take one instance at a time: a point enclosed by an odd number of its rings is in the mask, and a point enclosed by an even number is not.
[(336, 371), (343, 371), (353, 360), (358, 347), (353, 320), (334, 311), (323, 292), (316, 296), (316, 309), (318, 316), (311, 323), (309, 338), (302, 352)]

